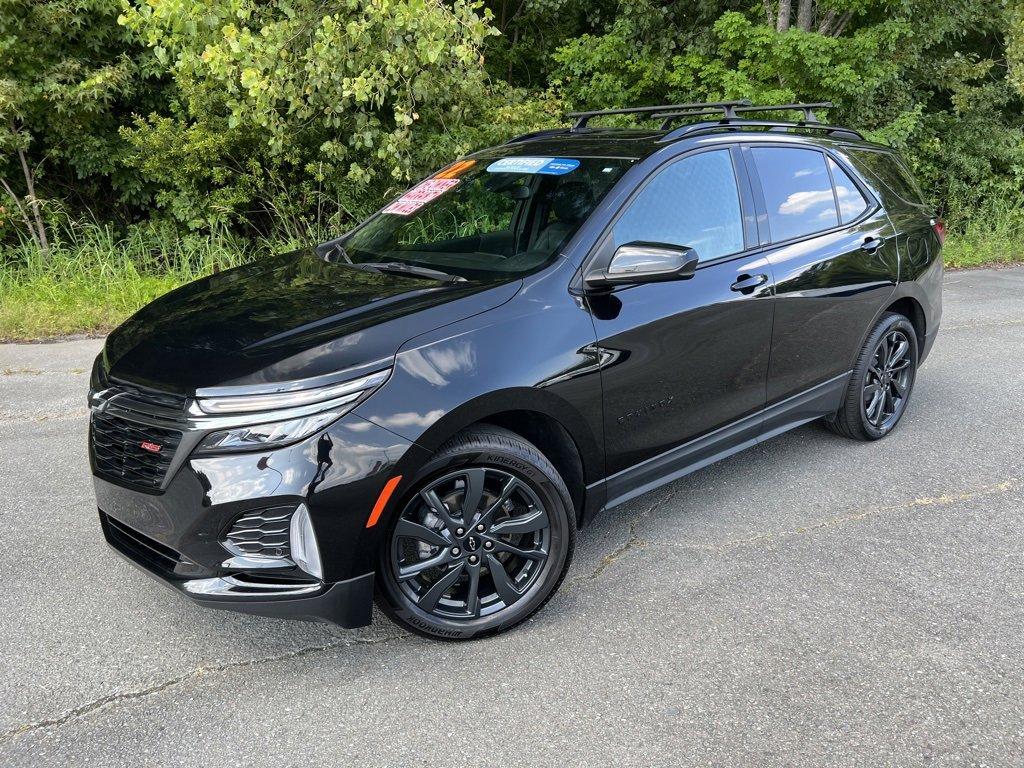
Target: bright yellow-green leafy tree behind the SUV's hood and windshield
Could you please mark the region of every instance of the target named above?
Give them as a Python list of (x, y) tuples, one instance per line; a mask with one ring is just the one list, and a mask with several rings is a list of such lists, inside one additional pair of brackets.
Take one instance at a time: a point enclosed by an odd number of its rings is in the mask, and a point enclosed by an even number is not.
[(125, 131), (133, 162), (194, 228), (263, 217), (298, 234), (325, 201), (350, 218), (408, 183), (417, 142), (473, 115), (488, 15), (465, 0), (128, 3), (122, 24), (176, 91)]

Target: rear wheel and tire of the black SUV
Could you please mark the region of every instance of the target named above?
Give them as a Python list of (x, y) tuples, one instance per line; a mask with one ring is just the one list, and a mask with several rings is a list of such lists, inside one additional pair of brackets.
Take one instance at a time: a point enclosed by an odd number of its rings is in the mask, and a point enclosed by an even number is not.
[(842, 407), (825, 426), (854, 440), (878, 440), (892, 432), (910, 401), (918, 354), (910, 321), (896, 312), (883, 314), (857, 355)]

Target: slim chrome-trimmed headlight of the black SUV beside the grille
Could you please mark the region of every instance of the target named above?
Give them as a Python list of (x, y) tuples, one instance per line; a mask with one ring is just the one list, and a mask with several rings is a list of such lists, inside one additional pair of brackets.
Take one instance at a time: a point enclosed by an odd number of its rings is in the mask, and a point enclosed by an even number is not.
[(341, 384), (290, 392), (200, 397), (191, 410), (197, 426), (225, 428), (204, 437), (196, 451), (222, 454), (298, 442), (355, 408), (390, 373), (379, 371)]

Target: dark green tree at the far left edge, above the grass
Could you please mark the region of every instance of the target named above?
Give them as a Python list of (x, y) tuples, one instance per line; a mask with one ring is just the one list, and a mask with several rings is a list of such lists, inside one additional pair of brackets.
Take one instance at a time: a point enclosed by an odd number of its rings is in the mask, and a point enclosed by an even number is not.
[(49, 250), (47, 194), (88, 205), (88, 183), (137, 191), (118, 135), (156, 87), (118, 0), (0, 0), (0, 232)]

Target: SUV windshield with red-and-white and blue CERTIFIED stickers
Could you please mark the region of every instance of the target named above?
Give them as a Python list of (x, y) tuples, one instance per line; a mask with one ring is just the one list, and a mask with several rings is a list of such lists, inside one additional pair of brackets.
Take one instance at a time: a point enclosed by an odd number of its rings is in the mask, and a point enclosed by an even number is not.
[(511, 157), (455, 163), (346, 238), (340, 261), (461, 278), (517, 276), (551, 261), (633, 163)]

